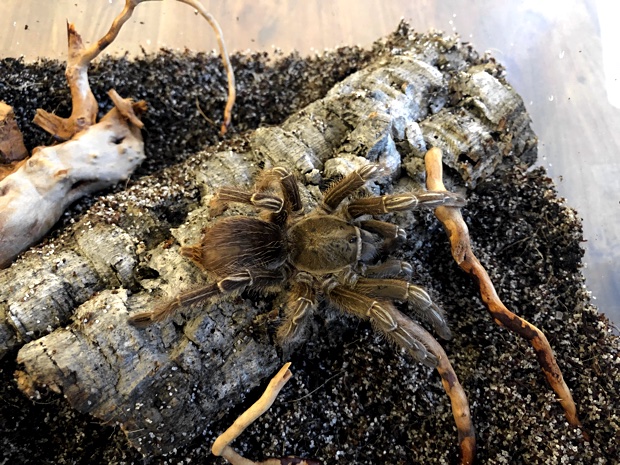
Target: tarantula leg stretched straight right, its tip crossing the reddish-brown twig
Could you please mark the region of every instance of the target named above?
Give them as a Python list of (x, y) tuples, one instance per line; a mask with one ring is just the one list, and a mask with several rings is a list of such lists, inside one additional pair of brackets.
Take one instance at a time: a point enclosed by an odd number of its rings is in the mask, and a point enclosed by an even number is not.
[(437, 208), (439, 206), (462, 207), (465, 199), (452, 192), (421, 192), (366, 197), (353, 200), (347, 205), (351, 218), (362, 215), (382, 215), (384, 213), (415, 210), (419, 207)]

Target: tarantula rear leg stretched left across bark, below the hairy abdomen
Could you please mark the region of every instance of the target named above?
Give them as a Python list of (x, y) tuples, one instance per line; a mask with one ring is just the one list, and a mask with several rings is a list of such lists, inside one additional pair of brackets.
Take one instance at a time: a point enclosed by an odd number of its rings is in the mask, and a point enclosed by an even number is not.
[(149, 312), (137, 313), (129, 317), (129, 323), (146, 327), (151, 323), (163, 321), (174, 315), (180, 308), (200, 304), (210, 299), (222, 299), (227, 295), (240, 293), (246, 288), (266, 289), (282, 282), (283, 275), (277, 270), (244, 270), (231, 274), (217, 283), (182, 292)]

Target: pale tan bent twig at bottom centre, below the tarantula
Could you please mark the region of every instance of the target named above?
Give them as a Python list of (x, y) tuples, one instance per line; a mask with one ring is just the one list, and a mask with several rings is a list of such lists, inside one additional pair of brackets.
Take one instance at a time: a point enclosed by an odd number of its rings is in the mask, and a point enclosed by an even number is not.
[(278, 393), (291, 378), (292, 373), (289, 370), (291, 363), (286, 363), (278, 373), (271, 379), (267, 389), (263, 395), (252, 406), (241, 414), (239, 418), (235, 420), (230, 428), (224, 431), (213, 443), (211, 452), (214, 455), (224, 457), (233, 465), (319, 465), (320, 462), (316, 460), (303, 459), (299, 457), (283, 457), (283, 458), (270, 458), (262, 462), (253, 462), (239, 455), (231, 446), (230, 443), (234, 441), (243, 431), (250, 426), (254, 421), (258, 419), (263, 413), (265, 413), (273, 402), (276, 400)]

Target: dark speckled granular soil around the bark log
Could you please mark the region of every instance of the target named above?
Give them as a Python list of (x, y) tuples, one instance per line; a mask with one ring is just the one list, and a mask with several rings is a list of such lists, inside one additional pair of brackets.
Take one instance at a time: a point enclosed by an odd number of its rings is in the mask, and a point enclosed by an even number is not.
[[(392, 45), (342, 48), (306, 59), (233, 57), (239, 93), (234, 131), (278, 124)], [(0, 61), (0, 97), (14, 106), (29, 149), (49, 142), (30, 123), (36, 108), (69, 112), (63, 66)], [(217, 119), (223, 108), (225, 79), (217, 57), (162, 51), (132, 60), (103, 59), (90, 76), (106, 105), (110, 83), (122, 96), (149, 102), (147, 161), (136, 176), (222, 143), (219, 124), (208, 123), (196, 110), (198, 101)], [(455, 338), (445, 347), (469, 397), (479, 463), (619, 463), (620, 344), (590, 304), (580, 272), (584, 239), (577, 214), (557, 198), (542, 168), (506, 169), (468, 195), (465, 219), (474, 250), (508, 308), (549, 338), (590, 435), (586, 441), (567, 424), (534, 352), (493, 323), (474, 283), (451, 260), (445, 234), (431, 215), (422, 215), (436, 234), (420, 248), (419, 260), (450, 315)], [(59, 228), (95, 200), (74, 206)], [(326, 334), (295, 355), (292, 381), (272, 410), (235, 442), (237, 449), (253, 459), (296, 454), (342, 464), (455, 462), (454, 422), (436, 373), (410, 368), (368, 326), (349, 326), (343, 339)], [(210, 455), (210, 444), (238, 412), (221, 424), (205, 425), (204, 435), (188, 447), (143, 458), (114, 425), (71, 410), (62, 398), (28, 400), (13, 381), (14, 359), (11, 354), (0, 364), (0, 465), (223, 462)]]

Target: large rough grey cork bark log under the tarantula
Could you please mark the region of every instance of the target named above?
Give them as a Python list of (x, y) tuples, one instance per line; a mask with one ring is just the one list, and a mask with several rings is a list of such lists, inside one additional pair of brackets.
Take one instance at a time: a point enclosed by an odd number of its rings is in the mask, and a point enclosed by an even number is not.
[[(430, 36), (410, 50), (394, 50), (281, 126), (254, 132), (247, 151), (197, 154), (165, 172), (165, 182), (161, 177), (145, 179), (131, 192), (111, 196), (108, 203), (119, 212), (135, 211), (133, 218), (106, 223), (97, 222), (96, 213), (87, 215), (68, 233), (78, 240), (67, 239), (51, 258), (35, 249), (0, 272), (0, 315), (6, 316), (0, 326), (0, 349), (6, 353), (35, 339), (18, 355), (20, 386), (31, 396), (47, 386), (62, 392), (74, 408), (119, 422), (130, 443), (145, 454), (186, 443), (282, 361), (265, 326), (256, 320), (271, 310), (270, 303), (256, 296), (189, 310), (186, 324), (178, 317), (146, 331), (127, 325), (128, 314), (206, 279), (180, 256), (174, 240), (196, 242), (208, 224), (206, 205), (215, 190), (250, 185), (259, 163), (300, 173), (306, 184), (302, 195), (312, 199), (328, 178), (354, 169), (358, 157), (387, 165), (395, 183), (421, 188), (422, 154), (428, 144), (442, 147), (447, 164), (454, 167), (449, 186), (475, 185), (506, 157), (511, 162), (531, 160), (535, 137), (523, 124), (527, 114), (522, 102), (497, 68), (488, 64), (482, 69), (479, 62), (472, 67), (472, 60), (467, 48), (441, 36)], [(490, 80), (479, 73), (487, 73)], [(468, 86), (451, 101), (457, 82)], [(486, 94), (493, 89), (501, 90)], [(489, 119), (482, 103), (503, 99), (508, 99), (498, 105), (503, 113)], [(451, 126), (450, 132), (425, 130), (441, 114), (465, 114), (471, 124)], [(513, 121), (521, 123), (513, 126)], [(459, 145), (454, 140), (469, 142)], [(477, 150), (478, 160), (463, 156), (470, 150)], [(400, 184), (376, 188), (389, 191)], [(164, 212), (189, 207), (196, 208), (178, 228), (170, 229)], [(83, 239), (85, 234), (91, 239)], [(419, 240), (428, 237), (425, 231), (416, 234)], [(109, 248), (102, 252), (104, 245)], [(52, 287), (54, 265), (40, 266), (39, 272), (30, 264), (71, 254), (75, 262), (84, 263), (73, 281), (85, 276), (90, 284), (79, 299), (64, 301), (57, 316), (49, 319), (33, 288), (47, 292)], [(29, 298), (18, 300), (15, 295)], [(63, 327), (72, 313), (73, 322)]]

